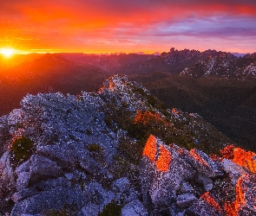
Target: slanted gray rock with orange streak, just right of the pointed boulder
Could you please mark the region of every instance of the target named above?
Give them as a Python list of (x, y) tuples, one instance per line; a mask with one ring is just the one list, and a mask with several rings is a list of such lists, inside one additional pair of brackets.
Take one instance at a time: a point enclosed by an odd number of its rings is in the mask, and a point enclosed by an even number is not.
[(207, 156), (206, 153), (199, 149), (191, 149), (187, 160), (194, 165), (200, 174), (206, 175), (207, 177), (216, 177), (223, 175), (218, 164)]

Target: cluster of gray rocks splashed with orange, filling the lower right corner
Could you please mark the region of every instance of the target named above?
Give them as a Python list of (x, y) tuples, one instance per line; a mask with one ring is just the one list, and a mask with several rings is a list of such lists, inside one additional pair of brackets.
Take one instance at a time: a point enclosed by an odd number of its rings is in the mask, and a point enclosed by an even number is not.
[[(253, 154), (235, 148), (234, 152), (238, 151), (243, 153), (242, 156)], [(145, 206), (154, 206), (160, 212), (161, 208), (175, 203), (172, 206), (174, 213), (187, 209), (187, 213), (195, 215), (254, 215), (255, 180), (253, 175), (234, 162), (236, 160), (235, 156), (233, 162), (224, 159), (222, 163), (216, 163), (198, 149), (187, 151), (174, 144), (167, 146), (151, 135), (141, 161), (143, 203)], [(240, 157), (239, 162), (245, 160)], [(215, 183), (216, 178), (220, 179), (218, 184), (221, 186)], [(221, 181), (230, 183), (224, 184)], [(231, 200), (218, 194), (220, 191), (222, 194), (231, 190)]]

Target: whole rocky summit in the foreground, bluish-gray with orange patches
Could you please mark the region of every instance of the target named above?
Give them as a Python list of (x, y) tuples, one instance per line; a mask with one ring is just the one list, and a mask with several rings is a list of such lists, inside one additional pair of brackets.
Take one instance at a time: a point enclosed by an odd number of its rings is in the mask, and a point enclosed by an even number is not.
[(0, 118), (0, 214), (256, 215), (256, 154), (126, 76)]

